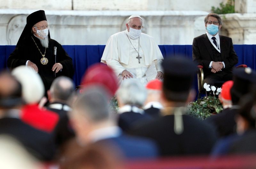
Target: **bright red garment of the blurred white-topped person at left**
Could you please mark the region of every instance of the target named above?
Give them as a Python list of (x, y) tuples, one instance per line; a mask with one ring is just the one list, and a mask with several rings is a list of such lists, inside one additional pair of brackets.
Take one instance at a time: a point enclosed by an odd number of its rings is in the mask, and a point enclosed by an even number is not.
[(51, 133), (59, 121), (55, 112), (40, 109), (37, 104), (25, 105), (21, 110), (21, 120), (28, 125)]

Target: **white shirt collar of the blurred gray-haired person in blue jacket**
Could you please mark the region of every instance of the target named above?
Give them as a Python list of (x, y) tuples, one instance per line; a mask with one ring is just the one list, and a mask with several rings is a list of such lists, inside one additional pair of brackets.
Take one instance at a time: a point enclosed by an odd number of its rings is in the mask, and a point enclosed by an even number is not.
[(88, 134), (88, 137), (92, 143), (108, 139), (108, 138), (115, 138), (122, 134), (122, 129), (118, 126), (111, 126), (111, 127), (105, 127), (101, 129), (96, 129), (91, 131)]

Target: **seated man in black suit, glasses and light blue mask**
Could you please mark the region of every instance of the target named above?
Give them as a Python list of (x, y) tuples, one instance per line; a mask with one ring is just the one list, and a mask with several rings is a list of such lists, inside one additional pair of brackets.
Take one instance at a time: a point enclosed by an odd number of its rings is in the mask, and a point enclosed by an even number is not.
[(193, 61), (204, 67), (204, 83), (216, 85), (232, 80), (232, 68), (238, 62), (232, 39), (219, 35), (222, 21), (218, 14), (208, 14), (204, 23), (206, 33), (193, 40)]

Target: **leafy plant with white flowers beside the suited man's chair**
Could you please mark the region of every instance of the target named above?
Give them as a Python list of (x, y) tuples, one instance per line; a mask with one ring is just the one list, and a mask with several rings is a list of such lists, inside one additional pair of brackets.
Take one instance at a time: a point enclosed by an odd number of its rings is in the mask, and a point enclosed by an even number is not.
[[(217, 88), (216, 90), (215, 86), (210, 87), (210, 85), (204, 83), (204, 89), (206, 96), (201, 99), (197, 99), (196, 101), (190, 102), (188, 105), (188, 115), (199, 118), (201, 120), (206, 119), (212, 114), (218, 114), (223, 110), (220, 100), (215, 97), (221, 92), (221, 88)], [(208, 96), (207, 92), (210, 92)]]

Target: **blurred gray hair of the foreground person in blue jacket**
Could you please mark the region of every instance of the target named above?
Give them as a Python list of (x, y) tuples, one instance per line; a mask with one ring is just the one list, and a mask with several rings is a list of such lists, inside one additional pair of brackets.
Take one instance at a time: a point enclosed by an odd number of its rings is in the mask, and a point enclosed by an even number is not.
[(92, 121), (107, 120), (110, 117), (108, 93), (100, 86), (88, 86), (78, 96), (74, 109), (82, 110)]

